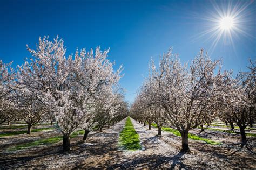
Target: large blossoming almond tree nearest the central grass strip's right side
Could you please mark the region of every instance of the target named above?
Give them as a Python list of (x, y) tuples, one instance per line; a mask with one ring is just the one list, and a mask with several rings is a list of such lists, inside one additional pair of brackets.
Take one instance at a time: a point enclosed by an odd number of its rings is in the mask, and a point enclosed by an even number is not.
[[(203, 50), (192, 61), (190, 68), (181, 65), (178, 55), (171, 50), (160, 58), (159, 68), (152, 63), (152, 77), (157, 81), (157, 100), (167, 113), (171, 126), (181, 134), (182, 148), (188, 147), (188, 131), (205, 123), (205, 116), (214, 117), (217, 101), (217, 78), (214, 75), (219, 60), (211, 61)], [(211, 111), (210, 111), (211, 110)], [(211, 116), (209, 116), (209, 114)]]

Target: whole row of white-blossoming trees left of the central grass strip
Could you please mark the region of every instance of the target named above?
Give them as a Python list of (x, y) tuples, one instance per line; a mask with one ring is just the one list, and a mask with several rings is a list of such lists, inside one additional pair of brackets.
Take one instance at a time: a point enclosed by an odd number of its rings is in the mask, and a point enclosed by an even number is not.
[(38, 122), (56, 121), (68, 151), (73, 132), (101, 131), (126, 117), (128, 104), (118, 84), (122, 66), (113, 69), (108, 50), (66, 56), (63, 43), (39, 38), (36, 49), (28, 47), (31, 58), (16, 69), (0, 61), (0, 123), (22, 119), (29, 134)]

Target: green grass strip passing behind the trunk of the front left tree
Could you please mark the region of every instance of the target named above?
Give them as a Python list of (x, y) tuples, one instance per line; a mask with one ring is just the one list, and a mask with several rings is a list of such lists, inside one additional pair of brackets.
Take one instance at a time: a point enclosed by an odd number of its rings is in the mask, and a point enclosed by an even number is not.
[[(73, 132), (70, 136), (70, 138), (75, 138), (78, 135), (84, 134), (84, 130), (78, 130), (76, 132)], [(46, 138), (46, 139), (39, 139), (36, 141), (31, 141), (25, 144), (20, 144), (16, 145), (14, 147), (9, 148), (10, 151), (17, 151), (17, 150), (22, 150), (23, 148), (29, 148), (33, 146), (38, 146), (38, 145), (49, 145), (49, 144), (54, 144), (58, 143), (59, 141), (62, 141), (62, 136), (56, 136), (56, 137), (51, 137), (51, 138)]]

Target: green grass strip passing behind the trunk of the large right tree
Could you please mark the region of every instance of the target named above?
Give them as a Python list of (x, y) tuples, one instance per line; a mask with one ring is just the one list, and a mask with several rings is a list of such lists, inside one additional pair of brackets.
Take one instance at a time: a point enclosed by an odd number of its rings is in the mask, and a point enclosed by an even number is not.
[[(151, 125), (154, 126), (155, 128), (157, 128), (157, 124), (156, 123), (152, 123)], [(176, 130), (176, 129), (167, 128), (167, 127), (162, 127), (161, 129), (163, 131), (170, 132), (170, 133), (172, 133), (172, 134), (174, 134), (176, 136), (181, 136), (180, 132), (178, 130)], [(188, 133), (188, 138), (189, 139), (193, 139), (193, 140), (205, 141), (205, 143), (210, 144), (210, 145), (220, 145), (221, 144), (218, 141), (213, 141), (213, 140), (210, 140), (210, 139), (202, 138), (202, 137), (197, 136), (196, 134), (191, 134), (191, 133)]]

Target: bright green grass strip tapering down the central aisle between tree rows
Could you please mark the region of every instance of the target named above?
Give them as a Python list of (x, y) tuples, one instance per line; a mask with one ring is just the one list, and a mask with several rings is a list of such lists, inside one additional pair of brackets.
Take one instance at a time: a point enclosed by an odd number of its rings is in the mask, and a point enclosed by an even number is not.
[(125, 122), (124, 129), (120, 133), (119, 141), (125, 150), (135, 151), (142, 148), (139, 144), (139, 134), (133, 128), (130, 117)]

